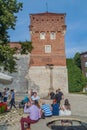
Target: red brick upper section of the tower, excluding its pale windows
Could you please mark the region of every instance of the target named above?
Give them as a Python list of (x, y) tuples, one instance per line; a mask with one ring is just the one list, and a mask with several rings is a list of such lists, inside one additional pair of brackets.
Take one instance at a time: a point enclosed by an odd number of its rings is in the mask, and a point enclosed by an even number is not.
[[(31, 66), (66, 66), (64, 31), (65, 14), (41, 13), (30, 15), (30, 31), (33, 44)], [(45, 32), (45, 39), (40, 39), (40, 33)], [(50, 33), (55, 32), (56, 39), (50, 39)], [(45, 45), (51, 45), (51, 53), (45, 52)]]

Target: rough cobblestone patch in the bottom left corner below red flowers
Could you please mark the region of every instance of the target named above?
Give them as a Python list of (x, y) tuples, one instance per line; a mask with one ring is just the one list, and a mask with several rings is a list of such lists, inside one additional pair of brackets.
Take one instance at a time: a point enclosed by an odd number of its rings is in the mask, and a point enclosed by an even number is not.
[[(23, 117), (23, 109), (12, 109), (10, 112), (6, 112), (0, 115), (0, 130), (13, 130), (19, 129), (19, 122), (21, 117)], [(18, 127), (18, 128), (17, 128)], [(16, 129), (15, 129), (16, 128)]]

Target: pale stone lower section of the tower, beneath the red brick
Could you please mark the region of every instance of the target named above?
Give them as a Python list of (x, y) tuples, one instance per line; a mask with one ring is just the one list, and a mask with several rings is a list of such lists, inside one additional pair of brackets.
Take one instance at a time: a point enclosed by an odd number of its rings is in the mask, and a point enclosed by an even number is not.
[[(52, 74), (52, 81), (50, 81)], [(53, 86), (53, 91), (61, 88), (64, 93), (68, 93), (67, 68), (54, 66), (51, 70), (48, 67), (31, 67), (29, 69), (29, 90), (36, 90), (41, 96), (46, 96)]]

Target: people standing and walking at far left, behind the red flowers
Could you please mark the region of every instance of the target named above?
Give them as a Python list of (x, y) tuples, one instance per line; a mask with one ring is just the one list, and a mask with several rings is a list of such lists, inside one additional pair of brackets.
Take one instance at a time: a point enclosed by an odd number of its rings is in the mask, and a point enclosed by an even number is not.
[(1, 102), (4, 102), (6, 104), (8, 104), (8, 99), (9, 99), (9, 105), (10, 107), (8, 108), (8, 110), (12, 109), (12, 106), (14, 106), (16, 109), (16, 105), (15, 105), (15, 92), (14, 89), (9, 89), (9, 88), (4, 88), (3, 92), (0, 92), (0, 98), (1, 98)]

